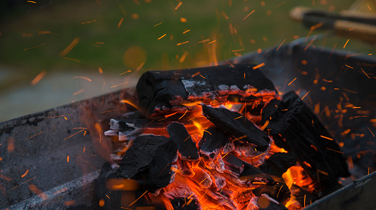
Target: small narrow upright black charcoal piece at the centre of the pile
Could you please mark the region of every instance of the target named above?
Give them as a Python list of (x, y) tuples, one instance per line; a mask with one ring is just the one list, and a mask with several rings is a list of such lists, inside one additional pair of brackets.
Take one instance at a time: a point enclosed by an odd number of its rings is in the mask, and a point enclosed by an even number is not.
[(167, 132), (178, 147), (182, 160), (195, 161), (200, 159), (196, 144), (192, 141), (184, 124), (172, 122), (167, 126)]

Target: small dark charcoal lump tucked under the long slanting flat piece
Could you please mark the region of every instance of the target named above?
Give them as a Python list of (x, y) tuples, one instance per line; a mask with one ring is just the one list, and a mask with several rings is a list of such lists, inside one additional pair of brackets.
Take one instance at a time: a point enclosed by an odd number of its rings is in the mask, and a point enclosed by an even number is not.
[(198, 143), (198, 147), (203, 157), (213, 161), (223, 147), (230, 144), (230, 137), (216, 127), (209, 127), (207, 131), (204, 132), (202, 139)]

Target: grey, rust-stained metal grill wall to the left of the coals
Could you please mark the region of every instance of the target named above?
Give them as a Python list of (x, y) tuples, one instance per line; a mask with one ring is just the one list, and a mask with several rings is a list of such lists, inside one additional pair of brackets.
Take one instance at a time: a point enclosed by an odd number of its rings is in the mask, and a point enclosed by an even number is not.
[[(110, 118), (131, 109), (126, 104), (119, 103), (121, 99), (135, 100), (134, 89), (113, 92), (1, 123), (0, 209), (35, 196), (38, 191), (30, 184), (45, 192), (100, 169), (112, 145), (108, 137), (98, 134), (95, 124), (98, 123), (106, 130)], [(119, 110), (110, 111), (113, 109)], [(86, 131), (85, 136), (81, 130)], [(73, 135), (76, 132), (79, 133)], [(69, 136), (71, 137), (68, 138)], [(21, 177), (26, 170), (29, 172)], [(70, 200), (76, 200), (76, 204), (79, 204), (87, 192), (84, 188), (76, 189), (75, 194), (77, 196), (70, 197)], [(64, 208), (63, 202), (64, 200), (59, 201), (60, 208)]]

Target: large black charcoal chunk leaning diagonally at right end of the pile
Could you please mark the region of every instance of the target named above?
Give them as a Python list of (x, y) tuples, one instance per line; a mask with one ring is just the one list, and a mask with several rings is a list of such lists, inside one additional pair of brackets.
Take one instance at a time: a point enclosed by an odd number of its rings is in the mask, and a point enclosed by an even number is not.
[(275, 144), (296, 155), (300, 165), (318, 184), (316, 189), (330, 188), (338, 177), (349, 176), (347, 164), (332, 135), (313, 111), (293, 91), (266, 105), (262, 124), (269, 123)]

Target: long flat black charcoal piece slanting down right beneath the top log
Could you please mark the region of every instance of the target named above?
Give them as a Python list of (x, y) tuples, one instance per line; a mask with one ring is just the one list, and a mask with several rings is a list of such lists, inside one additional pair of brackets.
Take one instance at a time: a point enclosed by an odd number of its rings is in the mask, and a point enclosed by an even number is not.
[[(202, 104), (204, 115), (216, 127), (226, 131), (228, 134), (238, 138), (240, 141), (252, 144), (258, 151), (265, 151), (269, 147), (270, 139), (268, 135), (258, 129), (251, 121), (246, 119), (238, 112), (230, 111), (227, 108), (213, 108)], [(239, 118), (236, 119), (235, 118)]]

